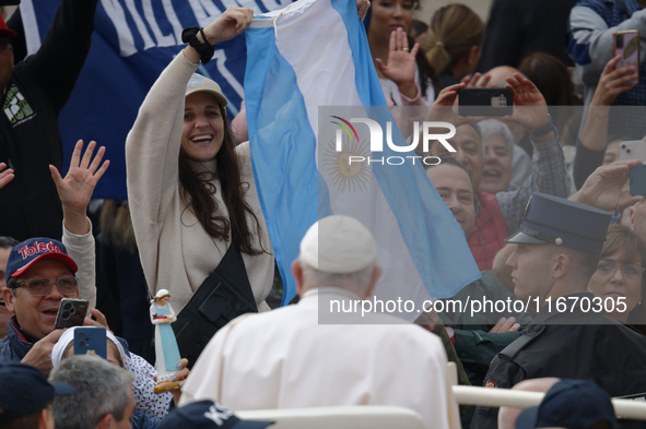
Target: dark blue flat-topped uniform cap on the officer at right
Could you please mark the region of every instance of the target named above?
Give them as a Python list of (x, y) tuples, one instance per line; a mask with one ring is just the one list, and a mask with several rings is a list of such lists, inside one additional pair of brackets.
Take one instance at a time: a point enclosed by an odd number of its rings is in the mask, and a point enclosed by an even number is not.
[(601, 254), (612, 214), (559, 196), (535, 192), (525, 210), (520, 228), (506, 242), (560, 245)]

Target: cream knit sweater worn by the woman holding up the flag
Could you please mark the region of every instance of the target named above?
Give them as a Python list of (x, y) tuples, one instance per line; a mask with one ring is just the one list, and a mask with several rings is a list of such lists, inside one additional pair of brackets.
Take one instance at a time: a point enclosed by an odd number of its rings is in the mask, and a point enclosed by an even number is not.
[[(126, 141), (128, 202), (143, 272), (153, 295), (168, 289), (171, 305), (179, 311), (203, 279), (218, 266), (230, 241), (214, 240), (186, 207), (179, 194), (178, 158), (184, 122), (186, 85), (197, 70), (183, 53), (162, 72), (139, 109)], [(254, 247), (269, 254), (243, 253), (247, 276), (258, 305), (268, 310), (265, 298), (273, 281), (273, 250), (258, 201), (248, 143), (236, 147), (242, 181), (248, 189), (245, 200), (256, 214), (261, 231), (247, 216)], [(193, 163), (196, 170), (215, 170), (215, 160)], [(221, 215), (228, 216), (222, 201), (220, 181), (213, 180)], [(246, 187), (246, 186), (245, 186)], [(239, 214), (238, 214), (239, 215)]]

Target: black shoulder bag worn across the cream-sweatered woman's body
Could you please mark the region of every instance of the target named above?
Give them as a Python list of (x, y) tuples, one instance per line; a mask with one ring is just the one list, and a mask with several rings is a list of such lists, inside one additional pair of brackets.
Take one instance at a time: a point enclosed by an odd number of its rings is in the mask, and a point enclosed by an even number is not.
[(258, 312), (258, 308), (243, 257), (232, 243), (172, 324), (179, 355), (188, 359), (188, 368), (222, 326), (249, 312)]

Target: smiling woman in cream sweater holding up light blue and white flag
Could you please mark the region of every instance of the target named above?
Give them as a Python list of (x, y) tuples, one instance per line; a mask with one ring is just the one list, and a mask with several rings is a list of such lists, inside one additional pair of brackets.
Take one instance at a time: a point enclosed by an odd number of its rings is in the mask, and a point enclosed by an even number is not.
[(259, 311), (269, 310), (274, 258), (249, 146), (234, 145), (220, 86), (195, 74), (215, 44), (251, 19), (250, 9), (231, 8), (205, 28), (186, 28), (189, 46), (152, 86), (126, 142), (128, 201), (145, 278), (153, 294), (167, 289), (177, 310), (201, 285), (213, 287), (205, 279), (225, 255), (242, 257), (233, 287), (250, 286), (239, 291), (252, 294)]

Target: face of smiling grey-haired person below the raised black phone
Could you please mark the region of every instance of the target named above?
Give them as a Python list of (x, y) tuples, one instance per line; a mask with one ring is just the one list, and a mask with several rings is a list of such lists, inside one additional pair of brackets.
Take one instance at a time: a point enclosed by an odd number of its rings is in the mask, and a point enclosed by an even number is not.
[(489, 193), (506, 191), (512, 181), (512, 153), (501, 134), (482, 140), (484, 144), (484, 168), (480, 190)]

